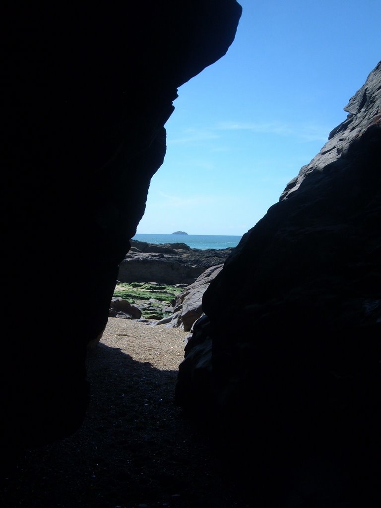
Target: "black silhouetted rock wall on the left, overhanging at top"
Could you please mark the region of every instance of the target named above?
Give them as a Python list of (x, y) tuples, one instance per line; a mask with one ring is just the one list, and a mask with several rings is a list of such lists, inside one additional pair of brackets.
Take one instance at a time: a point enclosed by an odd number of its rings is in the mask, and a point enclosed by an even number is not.
[(107, 323), (177, 88), (226, 53), (240, 15), (235, 0), (8, 7), (5, 456), (81, 424), (86, 346)]

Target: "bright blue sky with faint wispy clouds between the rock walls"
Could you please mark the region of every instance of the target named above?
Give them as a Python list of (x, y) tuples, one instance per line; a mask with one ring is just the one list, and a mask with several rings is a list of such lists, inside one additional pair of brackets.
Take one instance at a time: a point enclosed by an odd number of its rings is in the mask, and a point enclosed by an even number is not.
[(137, 233), (242, 235), (381, 60), (381, 0), (241, 0), (227, 54), (182, 85)]

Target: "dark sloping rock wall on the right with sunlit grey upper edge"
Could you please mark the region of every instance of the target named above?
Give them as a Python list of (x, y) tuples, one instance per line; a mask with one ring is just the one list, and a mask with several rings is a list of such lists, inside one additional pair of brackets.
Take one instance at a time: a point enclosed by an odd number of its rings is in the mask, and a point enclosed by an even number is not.
[(211, 281), (176, 402), (247, 453), (253, 492), (257, 478), (285, 495), (299, 473), (315, 492), (319, 463), (355, 506), (365, 477), (378, 484), (381, 62), (345, 111)]

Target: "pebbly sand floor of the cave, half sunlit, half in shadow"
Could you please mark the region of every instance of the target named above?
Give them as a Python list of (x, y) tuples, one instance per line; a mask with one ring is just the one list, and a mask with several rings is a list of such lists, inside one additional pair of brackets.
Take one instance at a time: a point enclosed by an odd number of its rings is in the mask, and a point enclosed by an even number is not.
[(173, 404), (179, 329), (109, 318), (89, 353), (82, 427), (28, 450), (0, 483), (2, 508), (245, 508), (202, 432)]

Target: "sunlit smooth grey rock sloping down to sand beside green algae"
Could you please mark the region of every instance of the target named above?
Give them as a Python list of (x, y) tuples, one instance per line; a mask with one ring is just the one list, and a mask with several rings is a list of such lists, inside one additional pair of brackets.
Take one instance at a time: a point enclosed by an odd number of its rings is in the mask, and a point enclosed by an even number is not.
[(175, 298), (173, 314), (157, 321), (155, 325), (165, 325), (169, 328), (182, 328), (185, 332), (190, 332), (195, 321), (203, 314), (202, 297), (206, 289), (223, 267), (224, 264), (207, 268), (193, 284), (189, 284), (184, 291)]

